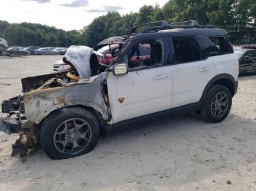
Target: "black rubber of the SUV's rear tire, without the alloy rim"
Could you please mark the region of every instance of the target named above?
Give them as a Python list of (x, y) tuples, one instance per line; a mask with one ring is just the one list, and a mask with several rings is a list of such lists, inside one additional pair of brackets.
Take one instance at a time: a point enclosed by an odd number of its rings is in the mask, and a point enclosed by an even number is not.
[[(212, 103), (214, 97), (218, 93), (225, 93), (228, 98), (227, 110), (226, 110), (225, 114), (223, 114), (220, 117), (214, 116), (211, 112), (211, 103)], [(207, 120), (210, 122), (221, 122), (229, 114), (231, 106), (232, 106), (232, 94), (230, 93), (230, 90), (223, 85), (213, 85), (206, 95), (206, 98), (203, 103), (203, 109), (201, 110), (200, 113), (203, 115), (204, 120)]]

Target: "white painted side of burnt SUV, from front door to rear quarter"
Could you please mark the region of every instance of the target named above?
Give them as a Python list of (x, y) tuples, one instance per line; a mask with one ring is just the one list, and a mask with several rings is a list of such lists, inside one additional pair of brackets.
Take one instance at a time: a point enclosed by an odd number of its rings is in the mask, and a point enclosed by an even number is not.
[[(218, 74), (238, 80), (235, 54), (209, 57), (128, 74), (108, 75), (108, 95), (113, 123), (200, 101), (208, 82)], [(121, 104), (118, 98), (124, 98)]]

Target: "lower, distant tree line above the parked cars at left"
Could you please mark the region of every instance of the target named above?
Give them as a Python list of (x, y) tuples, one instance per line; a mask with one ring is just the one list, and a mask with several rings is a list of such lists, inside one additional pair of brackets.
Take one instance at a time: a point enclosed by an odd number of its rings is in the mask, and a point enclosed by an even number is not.
[(69, 47), (79, 44), (79, 31), (64, 31), (34, 23), (10, 24), (0, 20), (0, 37), (9, 46)]

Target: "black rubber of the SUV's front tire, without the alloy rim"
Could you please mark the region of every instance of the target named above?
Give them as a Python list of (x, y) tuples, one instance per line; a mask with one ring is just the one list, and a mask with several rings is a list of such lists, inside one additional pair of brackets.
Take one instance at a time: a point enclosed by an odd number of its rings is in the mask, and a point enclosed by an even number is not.
[[(53, 136), (56, 131), (56, 128), (61, 125), (62, 122), (72, 118), (80, 118), (86, 120), (89, 123), (92, 130), (92, 137), (89, 145), (83, 149), (83, 151), (75, 154), (75, 155), (68, 155), (58, 151), (56, 149), (55, 144), (53, 142)], [(52, 159), (66, 159), (69, 157), (77, 157), (87, 152), (90, 152), (94, 149), (97, 141), (99, 139), (99, 122), (97, 122), (96, 117), (93, 114), (86, 111), (86, 109), (78, 109), (78, 108), (67, 108), (61, 109), (50, 117), (47, 117), (44, 122), (42, 122), (42, 126), (40, 129), (39, 140), (42, 149), (46, 152), (46, 154), (51, 157)]]

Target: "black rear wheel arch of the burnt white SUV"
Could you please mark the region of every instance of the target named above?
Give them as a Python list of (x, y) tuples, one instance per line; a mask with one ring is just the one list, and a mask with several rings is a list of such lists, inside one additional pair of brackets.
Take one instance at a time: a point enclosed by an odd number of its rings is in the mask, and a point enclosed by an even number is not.
[(208, 92), (208, 90), (212, 85), (224, 85), (230, 90), (232, 96), (236, 94), (236, 90), (237, 90), (236, 79), (230, 74), (218, 74), (216, 77), (212, 78), (208, 82), (205, 89), (203, 90), (203, 94), (200, 98), (200, 101), (203, 101), (203, 99), (206, 96), (206, 93)]

